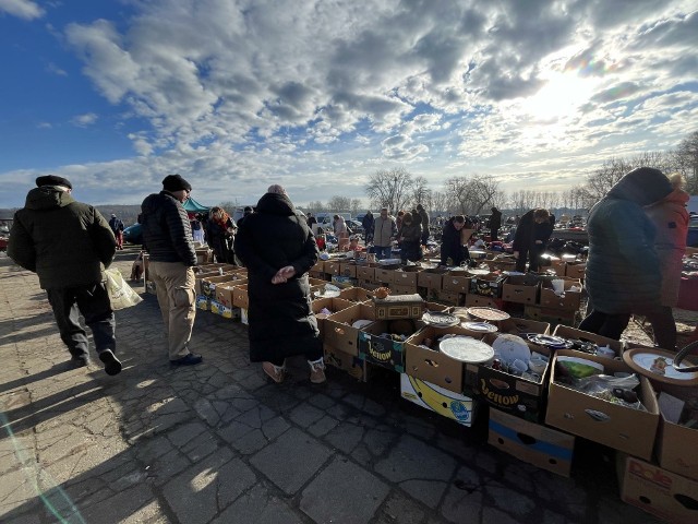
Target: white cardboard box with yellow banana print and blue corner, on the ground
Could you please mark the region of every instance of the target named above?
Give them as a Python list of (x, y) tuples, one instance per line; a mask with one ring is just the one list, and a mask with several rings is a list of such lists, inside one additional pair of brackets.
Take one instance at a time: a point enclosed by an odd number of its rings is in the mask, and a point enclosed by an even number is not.
[(400, 395), (418, 406), (470, 427), (474, 420), (476, 403), (459, 393), (430, 384), (406, 373), (400, 374)]

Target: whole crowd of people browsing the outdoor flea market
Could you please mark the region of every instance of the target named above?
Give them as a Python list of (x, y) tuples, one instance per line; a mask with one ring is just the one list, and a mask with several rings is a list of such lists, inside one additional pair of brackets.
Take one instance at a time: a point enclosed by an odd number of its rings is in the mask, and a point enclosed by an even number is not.
[[(666, 177), (658, 169), (635, 169), (592, 207), (585, 282), (589, 308), (581, 330), (619, 340), (630, 315), (642, 314), (653, 326), (655, 343), (675, 349), (672, 308), (677, 302), (688, 227), (688, 195), (683, 183), (679, 176)], [(76, 367), (89, 361), (87, 335), (79, 320), (82, 314), (106, 372), (117, 374), (121, 362), (116, 355), (116, 321), (104, 270), (122, 248), (123, 224), (115, 215), (107, 222), (94, 206), (75, 201), (71, 182), (62, 177), (39, 177), (36, 186), (14, 216), (8, 254), (38, 274), (71, 361)], [(141, 205), (143, 243), (149, 253), (169, 361), (173, 366), (203, 361), (189, 344), (196, 315), (195, 242), (206, 241), (218, 262), (237, 262), (248, 269), (251, 360), (262, 362), (263, 371), (281, 382), (286, 359), (302, 355), (310, 380), (324, 382), (308, 279), (308, 271), (326, 247), (315, 218), (297, 210), (278, 184), (268, 188), (254, 210), (245, 207), (238, 224), (221, 207), (190, 216), (183, 203), (191, 191), (183, 177), (168, 175), (163, 190), (149, 194)], [(501, 243), (502, 213), (496, 207), (491, 211), (490, 241)], [(430, 225), (436, 224), (441, 263), (461, 265), (470, 259), (468, 245), (478, 230), (464, 215), (430, 221), (421, 204), (396, 216), (383, 207), (378, 216), (364, 215), (362, 246), (342, 216), (333, 218), (338, 249), (368, 250), (383, 260), (392, 258), (397, 247), (404, 263), (422, 259)], [(516, 225), (517, 271), (537, 272), (553, 233), (554, 215), (535, 209), (509, 219)], [(71, 249), (65, 249), (65, 242)]]

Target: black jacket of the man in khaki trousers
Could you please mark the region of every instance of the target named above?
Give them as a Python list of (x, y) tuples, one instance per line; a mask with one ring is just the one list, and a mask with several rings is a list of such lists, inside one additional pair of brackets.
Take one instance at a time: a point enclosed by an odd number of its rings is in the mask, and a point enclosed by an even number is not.
[(196, 265), (192, 227), (181, 202), (167, 191), (153, 193), (141, 204), (143, 247), (153, 262)]

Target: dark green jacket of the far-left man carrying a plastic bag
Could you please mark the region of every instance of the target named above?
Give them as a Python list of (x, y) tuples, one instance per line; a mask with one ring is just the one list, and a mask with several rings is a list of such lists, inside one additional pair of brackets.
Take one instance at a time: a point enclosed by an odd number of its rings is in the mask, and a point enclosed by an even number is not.
[(101, 214), (56, 186), (33, 189), (14, 214), (8, 255), (35, 272), (43, 289), (104, 281), (117, 241)]

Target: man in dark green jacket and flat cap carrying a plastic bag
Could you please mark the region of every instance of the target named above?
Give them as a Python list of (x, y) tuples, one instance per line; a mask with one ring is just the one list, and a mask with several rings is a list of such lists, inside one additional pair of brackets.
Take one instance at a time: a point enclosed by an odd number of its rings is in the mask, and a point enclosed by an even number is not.
[(36, 186), (14, 214), (8, 254), (38, 275), (72, 364), (89, 362), (82, 313), (105, 371), (118, 374), (116, 321), (103, 273), (117, 247), (111, 228), (96, 209), (73, 199), (69, 180), (48, 175), (38, 177)]

